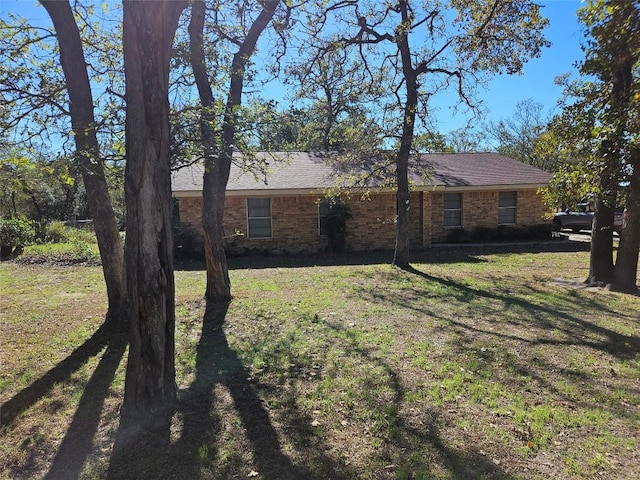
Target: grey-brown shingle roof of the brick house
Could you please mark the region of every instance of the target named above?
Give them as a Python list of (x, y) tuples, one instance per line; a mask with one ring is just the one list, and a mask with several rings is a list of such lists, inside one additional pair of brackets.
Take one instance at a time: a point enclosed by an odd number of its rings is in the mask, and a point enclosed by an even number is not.
[[(267, 162), (265, 177), (232, 165), (228, 192), (324, 190), (335, 186), (337, 170), (328, 156), (313, 152), (258, 153)], [(500, 186), (539, 187), (549, 182), (547, 172), (497, 153), (425, 154), (419, 161), (423, 174), (412, 174), (416, 187), (464, 188)], [(202, 190), (203, 167), (194, 164), (172, 175), (172, 189), (178, 192)], [(424, 174), (426, 173), (426, 174)]]

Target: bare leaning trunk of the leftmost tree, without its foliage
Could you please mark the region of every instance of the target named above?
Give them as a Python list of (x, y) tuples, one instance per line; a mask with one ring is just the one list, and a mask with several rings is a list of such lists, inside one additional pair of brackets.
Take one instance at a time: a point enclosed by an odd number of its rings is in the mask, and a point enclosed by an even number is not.
[(93, 97), (82, 40), (68, 1), (42, 0), (58, 36), (60, 63), (69, 94), (76, 158), (87, 190), (87, 203), (100, 249), (109, 309), (106, 322), (126, 323), (127, 291), (124, 253), (96, 137)]

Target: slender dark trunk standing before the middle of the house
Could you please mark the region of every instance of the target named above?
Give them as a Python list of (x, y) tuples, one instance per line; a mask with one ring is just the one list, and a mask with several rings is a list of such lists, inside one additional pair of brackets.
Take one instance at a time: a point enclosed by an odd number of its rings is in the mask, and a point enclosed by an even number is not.
[[(403, 24), (409, 21), (408, 5), (399, 2)], [(404, 32), (404, 33), (402, 33)], [(418, 75), (412, 65), (409, 38), (406, 31), (398, 29), (396, 44), (402, 58), (406, 100), (404, 118), (402, 121), (402, 137), (396, 157), (397, 208), (396, 246), (393, 255), (393, 265), (409, 268), (409, 157), (413, 145), (416, 111), (418, 108)]]

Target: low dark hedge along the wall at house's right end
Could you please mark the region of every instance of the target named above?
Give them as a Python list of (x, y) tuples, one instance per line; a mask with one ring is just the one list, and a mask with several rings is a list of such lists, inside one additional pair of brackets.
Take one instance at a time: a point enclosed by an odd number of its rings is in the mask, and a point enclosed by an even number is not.
[(499, 225), (497, 227), (456, 228), (447, 235), (447, 243), (513, 242), (550, 240), (552, 225)]

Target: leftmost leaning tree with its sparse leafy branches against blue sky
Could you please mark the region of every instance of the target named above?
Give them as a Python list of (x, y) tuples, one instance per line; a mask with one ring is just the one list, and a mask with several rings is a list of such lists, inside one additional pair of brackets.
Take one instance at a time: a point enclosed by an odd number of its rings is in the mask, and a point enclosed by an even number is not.
[(123, 250), (97, 138), (99, 121), (88, 72), (89, 63), (95, 66), (97, 60), (85, 54), (77, 23), (82, 5), (75, 4), (72, 10), (65, 0), (40, 3), (53, 21), (52, 31), (33, 27), (24, 19), (0, 19), (0, 127), (4, 134), (11, 132), (19, 139), (21, 150), (31, 150), (31, 156), (42, 144), (48, 149), (55, 145), (57, 151), (51, 153), (67, 156), (67, 143), (73, 143), (70, 149), (89, 192), (107, 286), (106, 321), (122, 324), (126, 305)]

